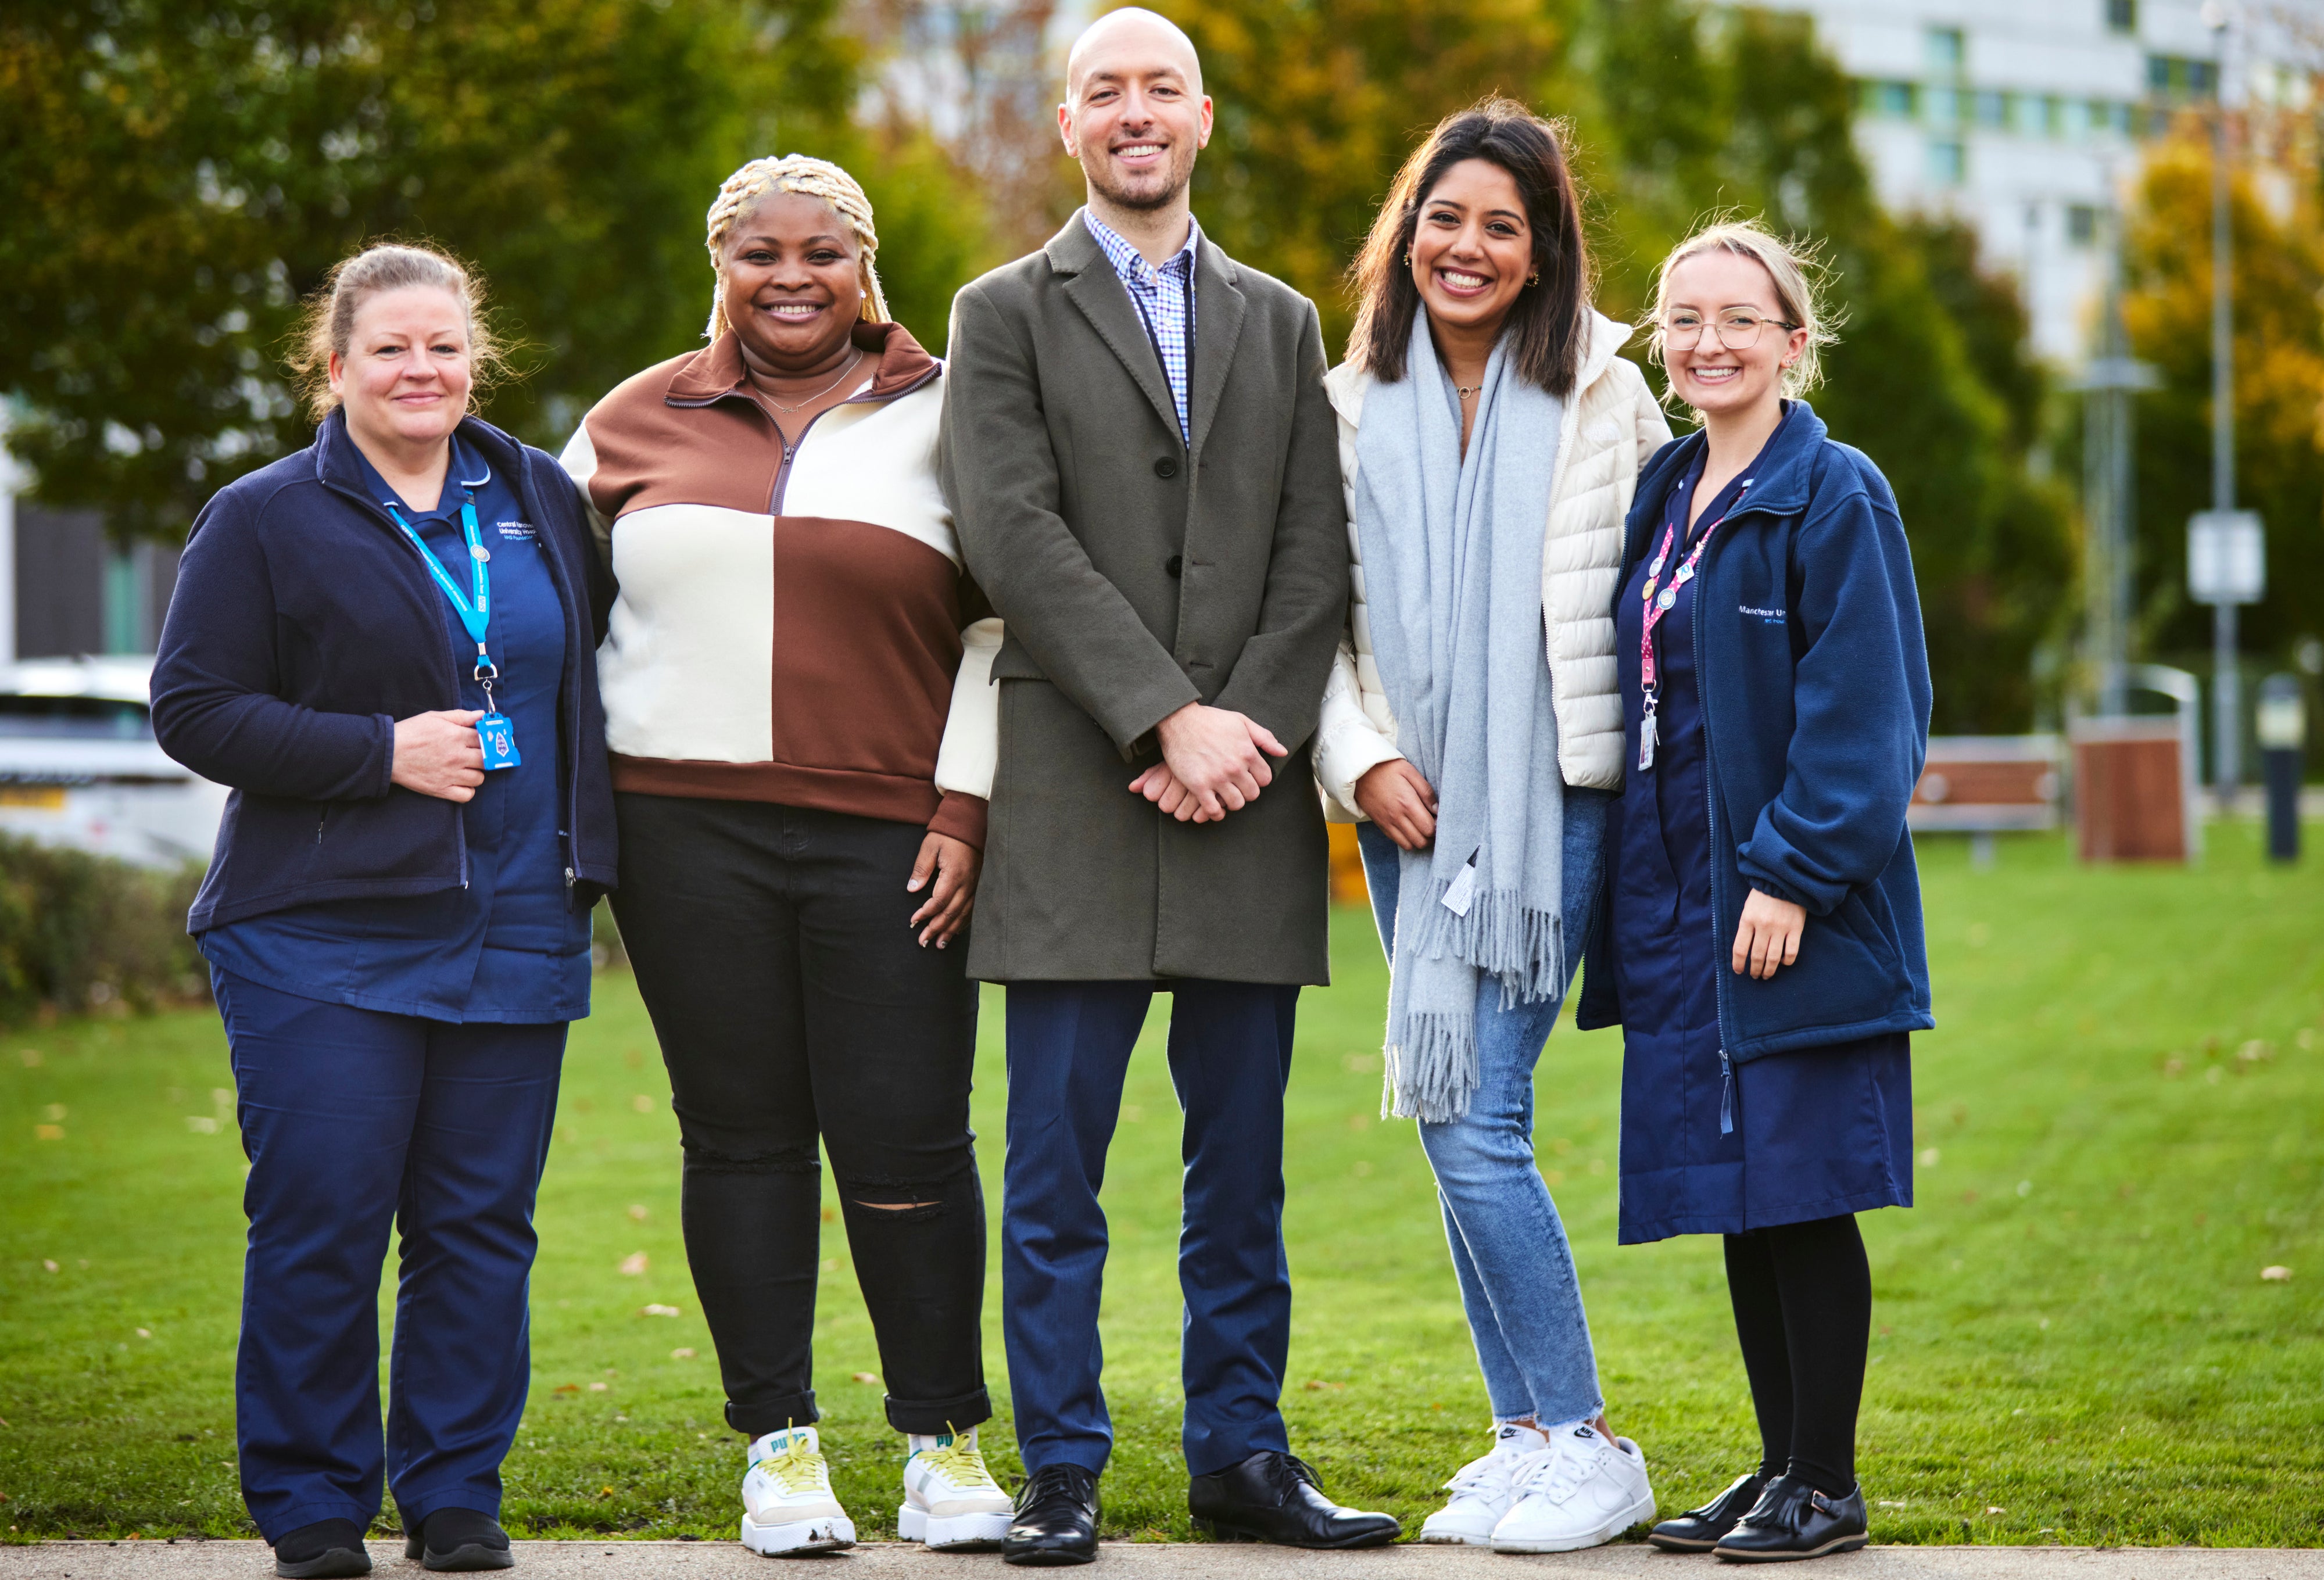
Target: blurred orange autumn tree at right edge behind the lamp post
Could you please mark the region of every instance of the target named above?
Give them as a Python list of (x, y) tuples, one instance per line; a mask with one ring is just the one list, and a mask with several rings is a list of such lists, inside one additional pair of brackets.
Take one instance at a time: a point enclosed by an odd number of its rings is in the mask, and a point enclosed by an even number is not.
[[(2324, 211), (2294, 163), (2268, 198), (2238, 172), (2236, 502), (2268, 525), (2268, 599), (2247, 648), (2287, 655), (2324, 632)], [(2140, 641), (2203, 653), (2210, 609), (2187, 602), (2187, 516), (2210, 509), (2210, 139), (2185, 128), (2147, 158), (2126, 237), (2131, 349), (2164, 386), (2138, 400)]]

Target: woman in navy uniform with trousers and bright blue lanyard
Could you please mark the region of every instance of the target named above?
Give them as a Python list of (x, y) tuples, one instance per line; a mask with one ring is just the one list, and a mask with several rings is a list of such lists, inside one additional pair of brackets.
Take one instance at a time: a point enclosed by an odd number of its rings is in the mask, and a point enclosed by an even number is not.
[(425, 246), (332, 270), (314, 444), (202, 507), (153, 662), (160, 746), (232, 788), (188, 927), (251, 1159), (235, 1431), (279, 1575), (370, 1573), (381, 1480), (428, 1568), (514, 1561), (532, 1197), (616, 871), (611, 583), (558, 462), (467, 416), (481, 295)]

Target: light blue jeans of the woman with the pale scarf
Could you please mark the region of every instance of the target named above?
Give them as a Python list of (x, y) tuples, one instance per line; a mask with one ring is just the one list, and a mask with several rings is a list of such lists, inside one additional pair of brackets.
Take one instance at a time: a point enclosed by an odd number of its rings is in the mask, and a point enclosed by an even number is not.
[[(1613, 797), (1566, 785), (1564, 799), (1564, 934), (1571, 974), (1590, 936), (1590, 913), (1606, 869), (1606, 804)], [(1380, 948), (1394, 964), (1397, 843), (1371, 823), (1360, 823), (1355, 836), (1364, 853)], [(1532, 1415), (1543, 1427), (1587, 1420), (1606, 1408), (1597, 1352), (1590, 1348), (1590, 1317), (1583, 1315), (1583, 1287), (1573, 1276), (1573, 1250), (1534, 1164), (1534, 1064), (1562, 1004), (1559, 992), (1541, 1004), (1501, 1008), (1501, 985), (1480, 981), (1480, 1085), (1466, 1115), (1420, 1127), (1420, 1148), (1436, 1171), (1452, 1276), (1459, 1280), (1492, 1413), (1497, 1420)]]

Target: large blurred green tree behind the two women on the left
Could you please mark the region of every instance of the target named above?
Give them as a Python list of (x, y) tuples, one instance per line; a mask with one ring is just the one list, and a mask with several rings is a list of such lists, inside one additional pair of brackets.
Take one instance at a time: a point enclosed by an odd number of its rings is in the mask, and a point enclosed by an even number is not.
[(700, 342), (702, 214), (744, 158), (816, 151), (883, 207), (916, 325), (976, 246), (920, 144), (848, 123), (837, 0), (65, 0), (0, 21), (0, 390), (58, 504), (174, 534), (307, 441), (279, 351), (297, 300), (374, 237), (493, 286), (530, 376), (486, 416), (558, 444)]

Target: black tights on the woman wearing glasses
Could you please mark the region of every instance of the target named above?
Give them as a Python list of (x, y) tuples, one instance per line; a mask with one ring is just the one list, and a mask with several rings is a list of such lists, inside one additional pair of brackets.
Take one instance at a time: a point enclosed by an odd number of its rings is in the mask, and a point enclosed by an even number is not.
[(1857, 1485), (1873, 1271), (1855, 1213), (1727, 1236), (1727, 1294), (1759, 1415), (1759, 1475)]

